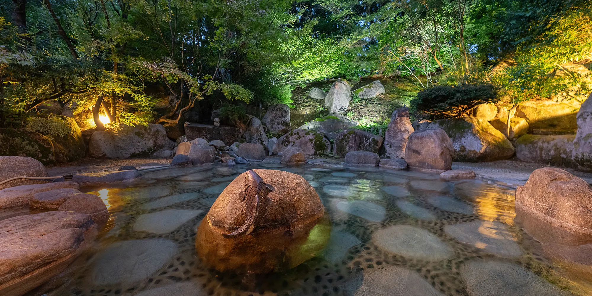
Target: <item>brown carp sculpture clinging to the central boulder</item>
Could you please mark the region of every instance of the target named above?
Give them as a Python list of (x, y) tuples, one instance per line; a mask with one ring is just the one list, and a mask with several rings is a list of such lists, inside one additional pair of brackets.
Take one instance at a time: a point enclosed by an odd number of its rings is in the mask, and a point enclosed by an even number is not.
[(243, 226), (230, 234), (223, 234), (223, 237), (242, 236), (251, 233), (267, 213), (269, 192), (275, 191), (274, 186), (263, 182), (255, 170), (247, 170), (244, 176), (244, 191), (239, 193), (239, 200), (246, 200), (246, 215)]

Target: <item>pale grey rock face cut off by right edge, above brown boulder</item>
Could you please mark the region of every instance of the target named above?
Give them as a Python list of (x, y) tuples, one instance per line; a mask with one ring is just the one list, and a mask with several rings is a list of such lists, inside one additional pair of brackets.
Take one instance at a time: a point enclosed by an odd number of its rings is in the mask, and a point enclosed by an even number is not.
[(582, 104), (577, 117), (573, 159), (579, 170), (592, 170), (592, 94)]

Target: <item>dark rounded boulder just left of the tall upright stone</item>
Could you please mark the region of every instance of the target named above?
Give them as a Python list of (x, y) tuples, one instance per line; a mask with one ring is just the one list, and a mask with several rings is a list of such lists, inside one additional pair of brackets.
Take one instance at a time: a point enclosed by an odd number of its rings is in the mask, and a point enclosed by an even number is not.
[(363, 130), (346, 130), (335, 137), (333, 155), (343, 157), (350, 151), (378, 153), (380, 146), (382, 146), (382, 137)]

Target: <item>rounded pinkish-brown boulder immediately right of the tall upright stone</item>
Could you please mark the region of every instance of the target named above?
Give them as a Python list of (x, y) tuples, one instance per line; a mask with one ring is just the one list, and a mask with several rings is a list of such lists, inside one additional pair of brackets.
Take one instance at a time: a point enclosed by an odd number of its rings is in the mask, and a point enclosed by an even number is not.
[(405, 149), (405, 161), (410, 169), (442, 173), (452, 168), (454, 148), (442, 129), (414, 131)]

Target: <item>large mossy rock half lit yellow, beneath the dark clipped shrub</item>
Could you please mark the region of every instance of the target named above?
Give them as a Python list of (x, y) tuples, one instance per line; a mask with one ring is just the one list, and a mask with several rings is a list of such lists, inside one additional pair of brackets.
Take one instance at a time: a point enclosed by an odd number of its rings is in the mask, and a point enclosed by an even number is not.
[(506, 136), (481, 118), (469, 116), (436, 120), (428, 128), (446, 131), (452, 141), (456, 161), (490, 162), (514, 155), (514, 147)]

